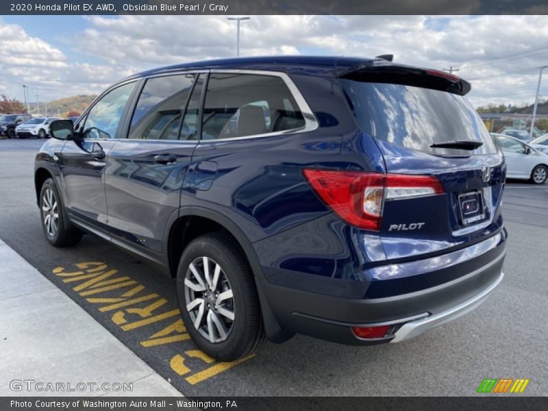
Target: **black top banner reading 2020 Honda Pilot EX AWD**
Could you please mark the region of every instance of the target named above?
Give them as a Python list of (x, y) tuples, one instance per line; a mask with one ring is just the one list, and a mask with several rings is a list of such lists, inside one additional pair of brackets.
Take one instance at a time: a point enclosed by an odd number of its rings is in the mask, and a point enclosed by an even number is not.
[(548, 0), (92, 1), (2, 0), (0, 14), (548, 14)]

